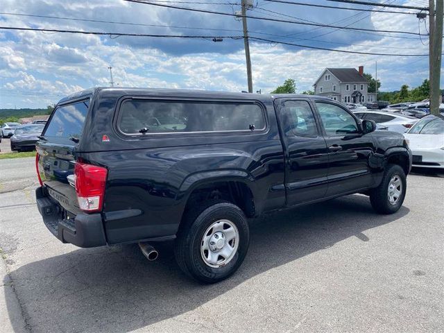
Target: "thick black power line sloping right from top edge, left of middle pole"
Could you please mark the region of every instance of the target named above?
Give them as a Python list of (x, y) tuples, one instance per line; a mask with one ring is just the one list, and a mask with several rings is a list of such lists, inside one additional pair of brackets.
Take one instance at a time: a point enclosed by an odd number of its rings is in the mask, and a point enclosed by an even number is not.
[[(134, 2), (134, 3), (142, 3), (146, 5), (151, 6), (159, 6), (159, 7), (165, 7), (165, 8), (173, 8), (173, 9), (180, 9), (180, 10), (189, 10), (191, 12), (205, 12), (207, 14), (216, 14), (216, 15), (225, 15), (230, 17), (244, 17), (244, 15), (234, 15), (229, 12), (216, 12), (214, 10), (205, 10), (205, 9), (198, 9), (198, 8), (187, 8), (187, 7), (178, 7), (178, 6), (171, 6), (171, 5), (164, 5), (161, 3), (151, 3), (151, 2), (145, 2), (145, 1), (139, 1), (139, 0), (124, 0), (128, 2)], [(343, 27), (343, 26), (332, 26), (330, 24), (317, 24), (317, 23), (309, 23), (309, 22), (296, 22), (296, 21), (289, 21), (286, 19), (271, 19), (268, 17), (257, 17), (257, 16), (249, 16), (245, 15), (248, 19), (261, 19), (264, 21), (271, 21), (271, 22), (282, 22), (282, 23), (290, 23), (290, 24), (302, 24), (306, 26), (325, 26), (329, 28), (338, 28), (338, 29), (345, 29), (345, 30), (352, 30), (352, 31), (373, 31), (373, 32), (379, 32), (379, 33), (405, 33), (407, 35), (420, 35), (419, 33), (413, 33), (411, 31), (391, 31), (391, 30), (374, 30), (374, 29), (366, 29), (366, 28), (351, 28), (351, 27)]]

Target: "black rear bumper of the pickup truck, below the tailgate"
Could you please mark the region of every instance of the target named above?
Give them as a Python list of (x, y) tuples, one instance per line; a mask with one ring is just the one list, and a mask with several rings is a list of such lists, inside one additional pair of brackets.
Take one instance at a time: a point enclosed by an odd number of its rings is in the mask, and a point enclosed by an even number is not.
[(100, 213), (78, 214), (69, 219), (65, 210), (46, 193), (44, 187), (37, 187), (35, 197), (46, 228), (62, 243), (74, 244), (80, 248), (106, 245)]

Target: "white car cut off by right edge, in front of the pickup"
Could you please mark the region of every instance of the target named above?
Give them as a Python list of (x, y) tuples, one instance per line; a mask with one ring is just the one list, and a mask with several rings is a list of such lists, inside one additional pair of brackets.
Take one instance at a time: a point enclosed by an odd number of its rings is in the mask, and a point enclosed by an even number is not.
[(444, 117), (424, 117), (404, 137), (413, 155), (413, 167), (444, 168)]

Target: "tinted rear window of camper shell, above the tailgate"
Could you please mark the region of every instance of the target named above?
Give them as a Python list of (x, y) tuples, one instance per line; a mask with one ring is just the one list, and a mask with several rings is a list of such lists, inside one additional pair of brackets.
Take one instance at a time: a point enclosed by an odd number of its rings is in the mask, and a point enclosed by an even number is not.
[(79, 138), (82, 134), (88, 106), (89, 101), (81, 101), (58, 107), (51, 117), (44, 136), (64, 139)]

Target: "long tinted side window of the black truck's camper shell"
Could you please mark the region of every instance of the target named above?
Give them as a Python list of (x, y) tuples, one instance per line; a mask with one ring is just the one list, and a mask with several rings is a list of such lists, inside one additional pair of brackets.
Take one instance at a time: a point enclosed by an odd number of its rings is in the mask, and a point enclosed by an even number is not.
[(264, 130), (263, 108), (253, 101), (125, 99), (117, 128), (123, 135)]

